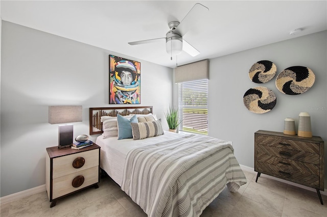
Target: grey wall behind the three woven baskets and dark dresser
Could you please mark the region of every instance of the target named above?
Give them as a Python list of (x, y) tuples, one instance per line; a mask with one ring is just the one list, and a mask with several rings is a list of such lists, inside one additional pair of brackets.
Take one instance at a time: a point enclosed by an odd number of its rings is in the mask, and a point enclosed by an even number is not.
[[(284, 119), (298, 126), (300, 112), (311, 116), (313, 135), (325, 141), (327, 156), (327, 32), (319, 32), (210, 60), (209, 135), (232, 141), (241, 165), (254, 168), (254, 132), (260, 129), (283, 132)], [(277, 73), (290, 66), (306, 66), (315, 74), (312, 88), (299, 95), (286, 95), (275, 86), (276, 76), (265, 84), (253, 83), (248, 72), (260, 60), (275, 63)], [(276, 106), (268, 113), (254, 114), (243, 104), (244, 93), (263, 86), (274, 92)], [(325, 167), (325, 188), (327, 186)]]

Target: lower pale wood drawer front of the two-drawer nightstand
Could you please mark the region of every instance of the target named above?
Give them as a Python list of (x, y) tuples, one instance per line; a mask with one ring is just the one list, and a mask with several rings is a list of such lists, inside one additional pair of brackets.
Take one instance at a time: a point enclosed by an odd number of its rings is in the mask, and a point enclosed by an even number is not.
[[(98, 181), (99, 181), (98, 175), (99, 175), (99, 167), (96, 166), (96, 167), (89, 168), (89, 169), (86, 169), (86, 170), (83, 170), (80, 172), (68, 174), (68, 175), (53, 179), (52, 199), (56, 199), (63, 195), (75, 192), (78, 189), (89, 186), (91, 184), (98, 183)], [(78, 176), (83, 176), (84, 182), (79, 187), (74, 187), (72, 184), (73, 180), (74, 180), (74, 178), (76, 178)]]

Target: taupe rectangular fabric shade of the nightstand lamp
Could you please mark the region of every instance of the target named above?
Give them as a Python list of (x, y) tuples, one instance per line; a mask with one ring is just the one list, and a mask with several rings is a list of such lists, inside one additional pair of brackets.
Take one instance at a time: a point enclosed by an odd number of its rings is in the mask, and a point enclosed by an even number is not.
[(82, 105), (49, 106), (49, 123), (62, 124), (82, 121)]

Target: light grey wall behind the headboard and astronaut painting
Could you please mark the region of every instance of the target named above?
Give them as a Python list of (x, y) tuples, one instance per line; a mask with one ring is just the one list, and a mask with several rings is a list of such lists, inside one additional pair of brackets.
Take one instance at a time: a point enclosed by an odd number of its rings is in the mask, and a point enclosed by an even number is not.
[(172, 69), (6, 21), (2, 28), (1, 197), (45, 183), (45, 148), (58, 144), (49, 105), (82, 105), (74, 137), (88, 134), (88, 108), (109, 106), (109, 54), (141, 62), (141, 105), (165, 120)]

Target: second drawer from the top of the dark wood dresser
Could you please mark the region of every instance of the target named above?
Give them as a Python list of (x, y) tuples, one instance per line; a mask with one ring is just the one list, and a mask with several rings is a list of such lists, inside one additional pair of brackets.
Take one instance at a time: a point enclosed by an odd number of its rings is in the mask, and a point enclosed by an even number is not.
[(258, 144), (256, 148), (256, 153), (267, 154), (271, 156), (297, 160), (301, 162), (307, 162), (309, 164), (315, 164), (315, 165), (319, 164), (319, 154), (313, 154), (313, 153), (297, 151), (292, 149), (271, 147), (271, 146)]

